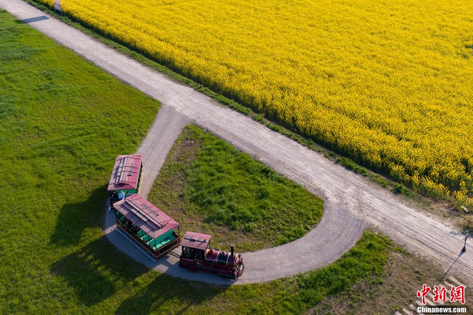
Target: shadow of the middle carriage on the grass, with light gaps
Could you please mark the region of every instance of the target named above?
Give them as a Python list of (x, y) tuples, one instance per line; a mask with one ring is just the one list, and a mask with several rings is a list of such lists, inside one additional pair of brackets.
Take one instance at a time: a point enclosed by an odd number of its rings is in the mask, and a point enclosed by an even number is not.
[(87, 306), (110, 297), (148, 271), (124, 256), (105, 236), (55, 262), (50, 270), (68, 282)]

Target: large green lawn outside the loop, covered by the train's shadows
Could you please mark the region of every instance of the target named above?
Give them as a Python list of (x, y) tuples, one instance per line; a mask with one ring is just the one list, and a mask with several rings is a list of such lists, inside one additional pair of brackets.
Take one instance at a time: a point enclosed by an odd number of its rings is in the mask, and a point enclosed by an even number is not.
[(393, 255), (405, 260), (366, 232), (330, 266), (257, 285), (136, 264), (101, 231), (105, 187), (115, 155), (134, 152), (158, 109), (0, 10), (0, 313), (302, 313), (359, 283), (377, 290)]

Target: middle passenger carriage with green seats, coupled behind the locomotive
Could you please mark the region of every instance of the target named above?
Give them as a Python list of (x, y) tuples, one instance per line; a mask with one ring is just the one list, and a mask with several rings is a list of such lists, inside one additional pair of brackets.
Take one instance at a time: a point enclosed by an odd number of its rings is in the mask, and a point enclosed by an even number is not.
[(178, 247), (179, 224), (143, 197), (134, 194), (114, 203), (116, 225), (153, 257)]

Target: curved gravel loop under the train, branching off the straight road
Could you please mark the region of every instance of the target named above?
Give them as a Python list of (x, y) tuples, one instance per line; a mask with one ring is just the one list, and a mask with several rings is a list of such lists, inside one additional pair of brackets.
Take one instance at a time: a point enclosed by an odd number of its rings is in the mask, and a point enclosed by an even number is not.
[[(163, 106), (159, 111), (150, 132), (137, 151), (143, 154), (144, 160), (142, 196), (146, 197), (150, 192), (167, 153), (182, 128), (189, 122), (193, 120), (171, 107)], [(346, 211), (343, 205), (326, 201), (321, 222), (304, 237), (278, 247), (243, 253), (244, 276), (238, 281), (232, 281), (213, 274), (191, 273), (179, 268), (179, 259), (171, 255), (158, 260), (145, 255), (133, 241), (117, 230), (112, 211), (107, 211), (104, 223), (107, 239), (136, 261), (173, 276), (223, 285), (264, 282), (330, 264), (353, 246), (364, 228), (363, 220)], [(180, 254), (180, 248), (174, 249), (174, 253)], [(294, 259), (294, 253), (297, 253), (297, 259)], [(301, 259), (307, 263), (299, 263)]]

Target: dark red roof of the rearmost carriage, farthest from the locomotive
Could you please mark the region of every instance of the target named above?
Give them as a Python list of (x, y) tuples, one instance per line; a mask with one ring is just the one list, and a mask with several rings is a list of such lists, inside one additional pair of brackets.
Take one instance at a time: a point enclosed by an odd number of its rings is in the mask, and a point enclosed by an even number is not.
[(142, 157), (139, 154), (119, 155), (115, 159), (108, 191), (135, 190)]

